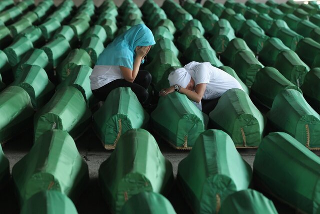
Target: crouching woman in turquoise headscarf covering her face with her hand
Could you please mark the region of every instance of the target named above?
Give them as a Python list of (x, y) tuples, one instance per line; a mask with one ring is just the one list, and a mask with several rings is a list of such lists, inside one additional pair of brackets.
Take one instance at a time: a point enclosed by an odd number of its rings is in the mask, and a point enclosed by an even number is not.
[(154, 45), (152, 32), (143, 24), (116, 37), (99, 55), (90, 76), (93, 95), (104, 101), (115, 88), (130, 87), (140, 103), (146, 101), (151, 75), (139, 71), (140, 64)]

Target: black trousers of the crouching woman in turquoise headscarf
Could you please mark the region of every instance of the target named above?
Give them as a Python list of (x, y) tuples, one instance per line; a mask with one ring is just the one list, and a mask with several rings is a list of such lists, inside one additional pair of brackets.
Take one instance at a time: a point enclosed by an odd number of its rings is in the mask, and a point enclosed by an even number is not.
[(124, 79), (117, 79), (109, 82), (108, 84), (92, 90), (92, 94), (95, 98), (99, 101), (104, 101), (108, 94), (115, 88), (119, 87), (129, 87), (133, 91), (133, 93), (138, 98), (139, 102), (142, 104), (148, 98), (147, 88), (151, 83), (151, 75), (149, 72), (145, 70), (139, 70), (138, 74), (136, 75), (133, 83), (130, 83)]

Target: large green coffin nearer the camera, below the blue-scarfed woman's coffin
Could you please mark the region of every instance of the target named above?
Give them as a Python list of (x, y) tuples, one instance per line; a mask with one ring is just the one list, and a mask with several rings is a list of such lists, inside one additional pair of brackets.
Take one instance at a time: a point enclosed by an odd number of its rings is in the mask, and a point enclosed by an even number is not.
[(139, 192), (166, 193), (172, 181), (171, 163), (144, 129), (125, 132), (99, 168), (101, 190), (112, 213), (119, 213), (125, 201)]

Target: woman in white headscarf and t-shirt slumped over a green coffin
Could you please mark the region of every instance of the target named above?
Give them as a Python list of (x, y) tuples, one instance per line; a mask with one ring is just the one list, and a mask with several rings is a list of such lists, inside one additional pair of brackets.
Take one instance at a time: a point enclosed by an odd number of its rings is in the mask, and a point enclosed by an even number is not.
[(211, 66), (210, 63), (190, 62), (183, 68), (171, 72), (168, 80), (171, 87), (162, 89), (160, 96), (174, 91), (184, 94), (197, 103), (198, 108), (205, 113), (209, 113), (215, 106), (209, 102), (210, 100), (216, 100), (231, 88), (242, 89), (234, 77)]

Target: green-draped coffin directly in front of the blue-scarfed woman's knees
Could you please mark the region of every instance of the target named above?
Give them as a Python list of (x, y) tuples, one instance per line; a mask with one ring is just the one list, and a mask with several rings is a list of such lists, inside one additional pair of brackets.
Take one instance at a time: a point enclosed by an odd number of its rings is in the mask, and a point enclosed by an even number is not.
[(93, 127), (105, 149), (114, 149), (121, 134), (146, 128), (149, 115), (130, 88), (113, 89), (93, 115)]

